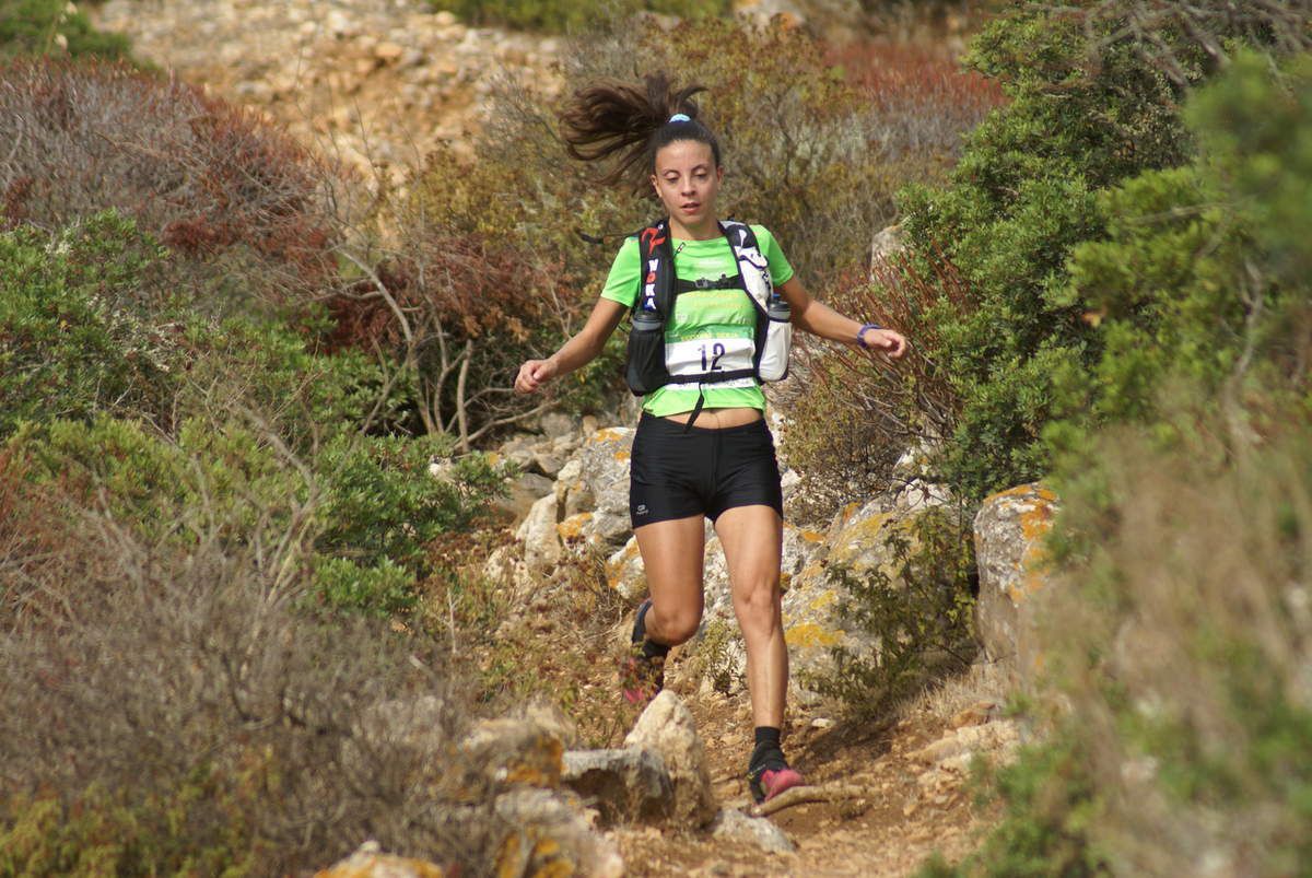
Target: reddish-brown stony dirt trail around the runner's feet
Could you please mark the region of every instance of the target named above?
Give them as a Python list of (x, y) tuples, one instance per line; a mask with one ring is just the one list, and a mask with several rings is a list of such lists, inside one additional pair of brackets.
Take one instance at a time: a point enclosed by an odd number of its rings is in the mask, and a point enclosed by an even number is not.
[[(677, 681), (674, 689), (680, 690)], [(705, 833), (617, 829), (626, 874), (892, 878), (913, 874), (934, 852), (955, 861), (988, 820), (974, 805), (971, 756), (996, 759), (1017, 740), (1015, 728), (998, 718), (1000, 701), (991, 694), (996, 692), (996, 681), (981, 667), (884, 719), (855, 722), (792, 705), (785, 739), (792, 764), (821, 789), (859, 787), (862, 794), (769, 815), (792, 853)], [(747, 697), (708, 693), (706, 686), (682, 697), (706, 743), (722, 806), (747, 810)]]

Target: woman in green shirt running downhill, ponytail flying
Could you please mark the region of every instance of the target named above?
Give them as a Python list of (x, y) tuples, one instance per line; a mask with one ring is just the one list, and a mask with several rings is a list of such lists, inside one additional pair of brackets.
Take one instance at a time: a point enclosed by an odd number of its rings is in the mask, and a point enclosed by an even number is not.
[[(745, 362), (750, 369), (753, 344), (748, 340), (758, 337), (760, 310), (736, 281), (739, 259), (716, 215), (724, 168), (715, 135), (697, 118), (691, 98), (702, 91), (695, 85), (676, 91), (664, 75), (648, 76), (642, 87), (598, 83), (573, 96), (562, 131), (576, 159), (618, 159), (604, 182), (627, 181), (635, 192), (651, 185), (664, 206), (668, 222), (644, 234), (668, 232), (670, 249), (665, 252), (673, 253), (680, 286), (664, 324), (665, 367), (669, 374), (695, 373), (694, 382), (676, 379), (643, 395), (634, 437), (630, 517), (651, 596), (634, 621), (626, 697), (653, 697), (670, 647), (697, 633), (703, 606), (703, 517), (708, 517), (724, 547), (733, 612), (747, 647), (756, 726), (748, 786), (761, 802), (803, 782), (779, 743), (789, 682), (779, 598), (783, 500), (760, 381), (744, 377), (741, 369), (731, 381), (707, 378), (728, 374), (714, 371), (720, 366), (715, 356), (726, 352), (729, 360), (739, 356), (736, 365)], [(857, 323), (812, 299), (774, 236), (761, 226), (750, 228), (774, 290), (791, 308), (794, 327), (895, 360), (905, 353), (900, 333)], [(525, 362), (516, 390), (537, 391), (601, 353), (625, 312), (644, 290), (651, 291), (655, 270), (639, 261), (640, 243), (634, 235), (621, 245), (583, 329), (546, 360)], [(714, 352), (710, 361), (708, 352)]]

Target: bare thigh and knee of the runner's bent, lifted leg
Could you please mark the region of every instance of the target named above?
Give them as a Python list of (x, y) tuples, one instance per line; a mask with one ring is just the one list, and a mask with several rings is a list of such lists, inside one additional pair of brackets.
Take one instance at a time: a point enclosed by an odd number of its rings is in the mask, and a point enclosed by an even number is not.
[(697, 634), (702, 622), (703, 516), (643, 525), (634, 535), (652, 598), (643, 619), (647, 637), (656, 643), (678, 646)]

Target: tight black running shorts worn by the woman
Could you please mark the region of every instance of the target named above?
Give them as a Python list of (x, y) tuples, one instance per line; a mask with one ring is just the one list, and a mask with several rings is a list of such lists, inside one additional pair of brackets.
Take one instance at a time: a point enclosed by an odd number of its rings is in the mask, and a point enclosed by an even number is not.
[(711, 429), (643, 412), (628, 474), (634, 528), (726, 509), (773, 507), (783, 517), (779, 465), (765, 420)]

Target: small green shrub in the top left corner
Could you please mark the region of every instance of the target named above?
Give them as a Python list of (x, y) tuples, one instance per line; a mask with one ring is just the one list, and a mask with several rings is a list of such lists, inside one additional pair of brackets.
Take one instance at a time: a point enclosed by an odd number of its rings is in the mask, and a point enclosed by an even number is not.
[(0, 0), (0, 59), (62, 55), (125, 59), (129, 39), (101, 33), (66, 0)]

